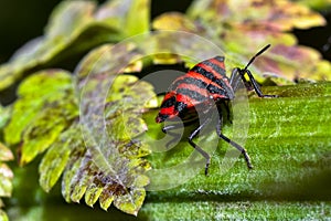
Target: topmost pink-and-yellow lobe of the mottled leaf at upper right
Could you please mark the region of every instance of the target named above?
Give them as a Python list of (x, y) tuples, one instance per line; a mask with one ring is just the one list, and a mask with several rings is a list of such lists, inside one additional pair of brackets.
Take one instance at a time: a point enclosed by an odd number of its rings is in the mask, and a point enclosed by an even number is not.
[(279, 31), (325, 24), (325, 20), (317, 12), (288, 0), (249, 0), (241, 3), (227, 0), (194, 1), (188, 14), (210, 22), (256, 24)]

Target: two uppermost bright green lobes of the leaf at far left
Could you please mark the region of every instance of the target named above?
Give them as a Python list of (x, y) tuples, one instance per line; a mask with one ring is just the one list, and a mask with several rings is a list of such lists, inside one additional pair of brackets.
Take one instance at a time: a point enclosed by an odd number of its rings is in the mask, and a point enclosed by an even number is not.
[(18, 95), (4, 138), (11, 145), (21, 141), (19, 160), (24, 165), (49, 148), (78, 112), (65, 71), (35, 73), (20, 85)]

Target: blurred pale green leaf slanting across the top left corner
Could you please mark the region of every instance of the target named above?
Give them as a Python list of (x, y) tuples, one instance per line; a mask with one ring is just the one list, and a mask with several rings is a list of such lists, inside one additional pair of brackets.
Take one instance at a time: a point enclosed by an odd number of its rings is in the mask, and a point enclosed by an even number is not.
[(147, 31), (149, 0), (111, 0), (99, 8), (94, 1), (63, 1), (51, 14), (44, 35), (0, 66), (0, 91), (41, 67)]

